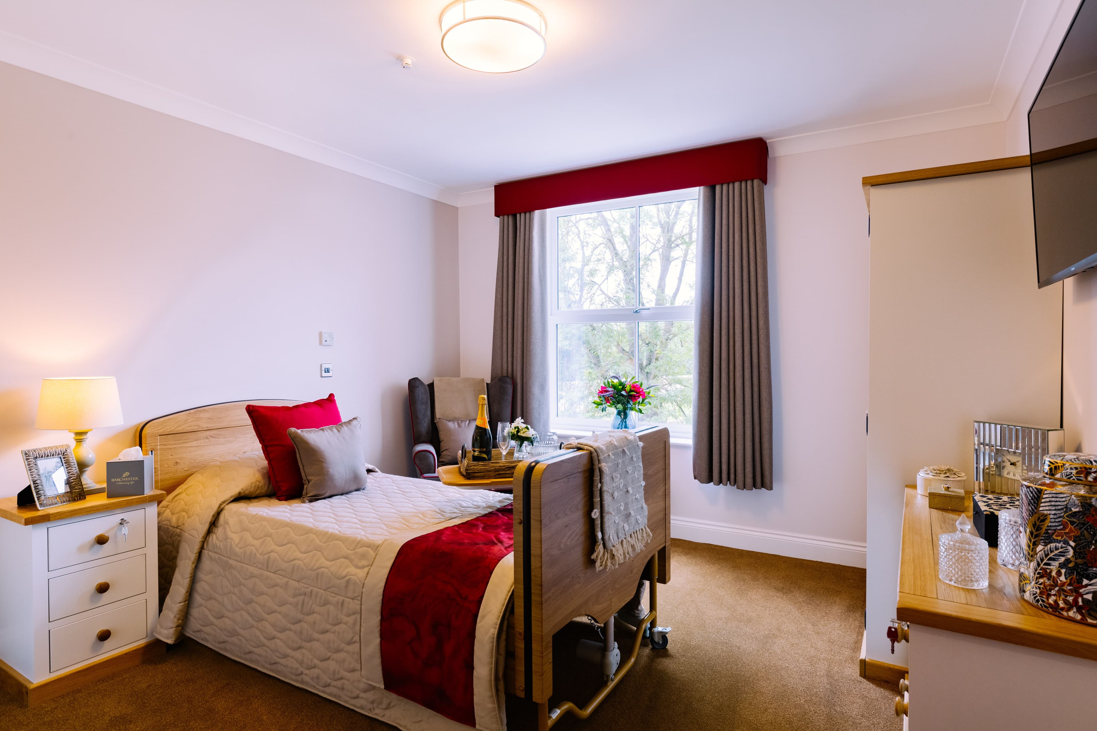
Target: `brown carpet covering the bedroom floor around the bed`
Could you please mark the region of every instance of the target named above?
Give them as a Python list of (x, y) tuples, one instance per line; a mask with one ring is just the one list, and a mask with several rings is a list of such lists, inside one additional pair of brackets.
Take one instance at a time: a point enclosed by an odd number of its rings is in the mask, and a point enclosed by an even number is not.
[[(683, 540), (672, 551), (671, 583), (659, 589), (660, 624), (674, 627), (669, 648), (642, 648), (589, 720), (568, 717), (555, 729), (902, 728), (895, 692), (857, 675), (862, 569)], [(577, 661), (561, 667), (575, 638), (558, 639), (556, 688), (586, 701), (597, 671)], [(510, 699), (507, 711), (511, 730), (536, 728), (523, 701)], [(193, 640), (31, 709), (0, 692), (5, 731), (391, 728)]]

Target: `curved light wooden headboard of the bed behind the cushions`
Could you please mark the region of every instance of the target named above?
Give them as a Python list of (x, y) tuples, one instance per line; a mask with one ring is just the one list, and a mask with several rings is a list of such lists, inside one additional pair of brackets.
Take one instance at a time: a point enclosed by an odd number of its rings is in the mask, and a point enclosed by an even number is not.
[(203, 467), (259, 452), (244, 407), (291, 407), (301, 401), (227, 401), (149, 419), (137, 432), (142, 452), (156, 456), (156, 489), (171, 492)]

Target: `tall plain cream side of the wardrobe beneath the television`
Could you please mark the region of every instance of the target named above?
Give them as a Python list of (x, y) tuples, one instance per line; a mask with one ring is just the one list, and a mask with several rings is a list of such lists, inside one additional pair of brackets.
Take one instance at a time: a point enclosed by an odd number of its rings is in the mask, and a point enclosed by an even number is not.
[(1059, 425), (1061, 285), (1037, 287), (1028, 168), (872, 189), (868, 656), (895, 616), (905, 484), (972, 473), (976, 419)]

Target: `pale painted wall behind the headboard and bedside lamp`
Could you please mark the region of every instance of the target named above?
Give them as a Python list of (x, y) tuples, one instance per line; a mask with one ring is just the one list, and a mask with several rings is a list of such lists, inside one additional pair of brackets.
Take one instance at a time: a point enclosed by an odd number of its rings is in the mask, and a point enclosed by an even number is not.
[(329, 391), (408, 473), (407, 379), (460, 368), (456, 230), (452, 206), (0, 64), (0, 495), (21, 448), (70, 441), (33, 426), (64, 375), (118, 379), (99, 480), (151, 416)]

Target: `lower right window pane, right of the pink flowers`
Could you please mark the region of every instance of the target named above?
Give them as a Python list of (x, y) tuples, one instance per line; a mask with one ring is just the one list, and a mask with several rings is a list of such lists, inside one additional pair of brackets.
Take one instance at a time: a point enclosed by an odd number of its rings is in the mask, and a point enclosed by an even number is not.
[(640, 378), (658, 386), (641, 418), (659, 424), (693, 422), (693, 323), (640, 323)]

